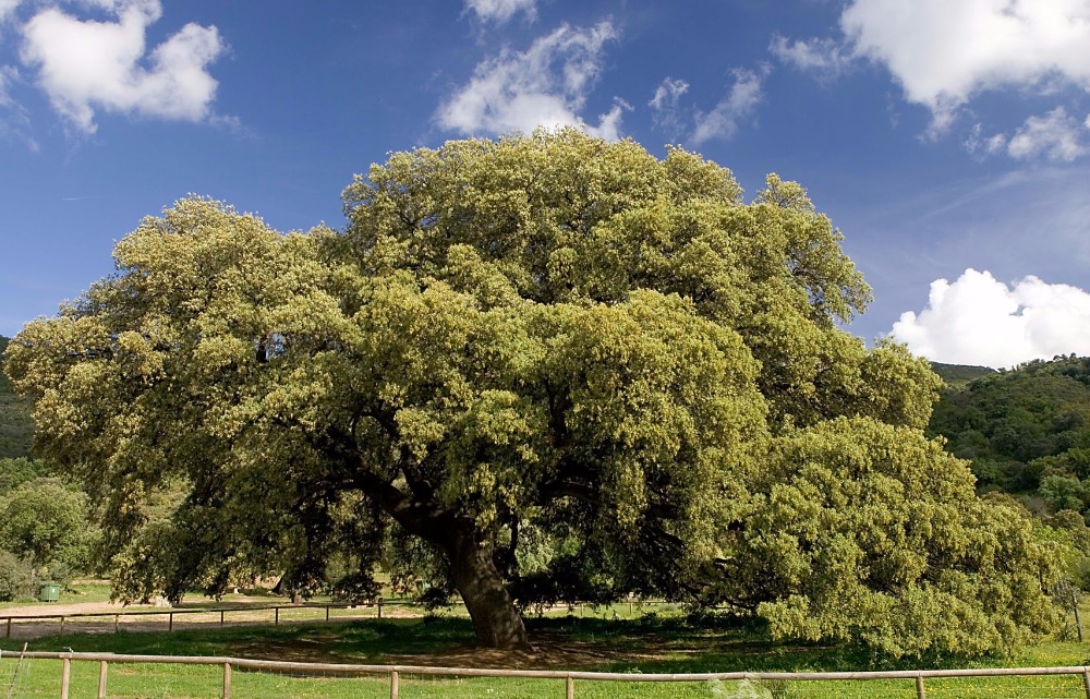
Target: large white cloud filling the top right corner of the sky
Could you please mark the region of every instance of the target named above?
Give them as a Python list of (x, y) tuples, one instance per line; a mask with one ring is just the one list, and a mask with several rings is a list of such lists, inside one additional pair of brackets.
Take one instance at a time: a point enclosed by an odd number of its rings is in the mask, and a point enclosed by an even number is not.
[(840, 26), (856, 56), (931, 110), (933, 133), (983, 91), (1090, 89), (1090, 0), (855, 0)]

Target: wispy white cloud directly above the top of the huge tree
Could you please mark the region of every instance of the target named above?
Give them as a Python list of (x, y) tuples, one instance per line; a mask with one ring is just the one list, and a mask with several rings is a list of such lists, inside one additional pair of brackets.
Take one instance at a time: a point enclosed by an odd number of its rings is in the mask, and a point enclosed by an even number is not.
[[(470, 82), (439, 106), (436, 121), (468, 135), (584, 125), (579, 112), (602, 72), (605, 44), (617, 36), (609, 22), (588, 29), (564, 24), (525, 51), (504, 49), (477, 64)], [(616, 137), (623, 110), (616, 103), (590, 130)]]

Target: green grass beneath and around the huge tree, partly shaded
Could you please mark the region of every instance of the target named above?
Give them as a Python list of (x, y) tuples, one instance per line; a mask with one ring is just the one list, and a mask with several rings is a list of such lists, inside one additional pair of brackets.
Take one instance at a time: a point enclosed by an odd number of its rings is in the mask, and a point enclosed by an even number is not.
[[(618, 616), (627, 605), (617, 610)], [(774, 671), (912, 670), (918, 667), (1003, 666), (1012, 661), (966, 661), (935, 658), (927, 662), (873, 660), (853, 647), (774, 643), (760, 629), (690, 624), (681, 616), (644, 615), (613, 618), (611, 610), (595, 616), (529, 619), (536, 649), (532, 653), (480, 651), (472, 647), (469, 620), (458, 616), (310, 623), (279, 627), (186, 629), (172, 634), (94, 634), (39, 639), (31, 650), (116, 652), (162, 655), (232, 655), (239, 658), (325, 663), (370, 663), (590, 670), (631, 673), (708, 673)], [(602, 617), (606, 618), (602, 618)], [(4, 651), (21, 642), (0, 641)], [(1051, 641), (1027, 649), (1013, 660), (1022, 666), (1081, 665), (1088, 648)], [(0, 661), (0, 696), (60, 696), (61, 663), (29, 660), (15, 673), (15, 658)], [(73, 663), (72, 699), (95, 697), (97, 663)], [(218, 697), (219, 666), (111, 664), (109, 697)], [(564, 697), (557, 679), (433, 678), (401, 676), (402, 698)], [(306, 697), (348, 699), (389, 697), (389, 679), (379, 677), (299, 677), (270, 672), (235, 671), (232, 697)], [(579, 680), (576, 697), (713, 697), (748, 698), (915, 698), (910, 679), (840, 683), (687, 683), (640, 684)], [(927, 696), (938, 697), (1086, 697), (1081, 677), (928, 679)]]

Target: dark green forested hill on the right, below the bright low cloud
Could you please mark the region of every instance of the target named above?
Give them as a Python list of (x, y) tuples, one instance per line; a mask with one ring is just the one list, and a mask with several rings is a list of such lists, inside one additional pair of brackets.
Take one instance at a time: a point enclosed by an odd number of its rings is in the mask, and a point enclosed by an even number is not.
[(1090, 506), (1090, 358), (1033, 361), (950, 386), (929, 433), (971, 459), (985, 490), (1041, 496), (1049, 507)]

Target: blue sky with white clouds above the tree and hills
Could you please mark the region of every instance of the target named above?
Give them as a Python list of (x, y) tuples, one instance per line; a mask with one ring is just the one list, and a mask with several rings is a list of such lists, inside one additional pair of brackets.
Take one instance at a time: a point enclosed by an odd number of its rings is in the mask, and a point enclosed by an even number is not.
[(1090, 0), (0, 0), (0, 334), (189, 193), (340, 227), (388, 152), (564, 123), (804, 184), (869, 341), (1090, 353)]

